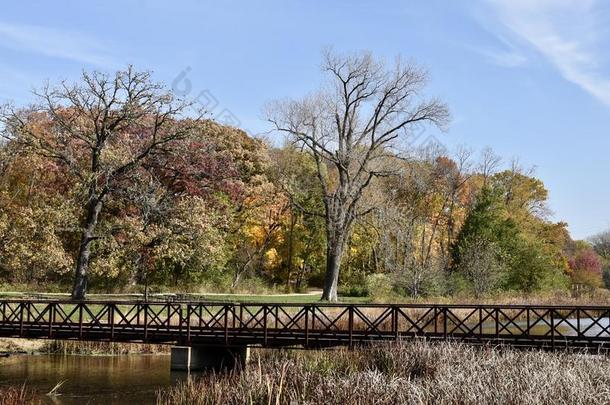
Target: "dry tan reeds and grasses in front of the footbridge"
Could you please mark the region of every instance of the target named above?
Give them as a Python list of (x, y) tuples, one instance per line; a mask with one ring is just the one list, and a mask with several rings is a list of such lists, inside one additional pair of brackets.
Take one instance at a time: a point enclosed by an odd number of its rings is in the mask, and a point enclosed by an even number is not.
[(259, 351), (242, 373), (158, 393), (165, 404), (593, 404), (605, 357), (403, 342), (356, 351)]

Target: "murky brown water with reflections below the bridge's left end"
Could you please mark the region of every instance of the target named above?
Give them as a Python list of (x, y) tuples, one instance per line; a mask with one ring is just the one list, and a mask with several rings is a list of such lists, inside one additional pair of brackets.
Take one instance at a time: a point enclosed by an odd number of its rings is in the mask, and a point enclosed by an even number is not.
[[(0, 384), (27, 385), (48, 404), (151, 404), (155, 391), (183, 374), (170, 374), (166, 355), (13, 356), (0, 363)], [(47, 397), (59, 381), (60, 396)]]

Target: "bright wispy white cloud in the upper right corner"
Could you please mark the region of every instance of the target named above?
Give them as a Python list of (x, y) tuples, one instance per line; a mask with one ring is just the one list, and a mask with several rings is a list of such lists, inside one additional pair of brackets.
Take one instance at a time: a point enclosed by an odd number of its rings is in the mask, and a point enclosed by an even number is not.
[[(597, 0), (487, 0), (506, 30), (543, 55), (568, 81), (610, 107), (604, 66), (609, 21)], [(607, 32), (607, 31), (606, 31)]]

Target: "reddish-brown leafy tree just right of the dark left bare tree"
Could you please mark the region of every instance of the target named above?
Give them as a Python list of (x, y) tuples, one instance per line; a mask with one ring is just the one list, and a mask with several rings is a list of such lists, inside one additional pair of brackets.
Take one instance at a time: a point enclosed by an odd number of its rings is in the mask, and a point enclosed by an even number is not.
[(140, 280), (158, 263), (174, 285), (226, 265), (221, 258), (229, 255), (231, 211), (241, 204), (252, 176), (252, 169), (243, 167), (256, 164), (244, 153), (248, 148), (261, 147), (243, 131), (201, 120), (188, 137), (173, 142), (172, 153), (148, 159), (124, 198), (139, 211), (141, 231), (149, 231), (140, 232), (135, 255)]

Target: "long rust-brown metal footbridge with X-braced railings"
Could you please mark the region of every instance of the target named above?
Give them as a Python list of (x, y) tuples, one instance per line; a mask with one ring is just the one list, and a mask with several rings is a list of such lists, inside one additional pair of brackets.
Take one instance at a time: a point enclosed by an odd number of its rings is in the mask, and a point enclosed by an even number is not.
[(0, 337), (170, 344), (176, 368), (247, 348), (354, 347), (409, 338), (610, 347), (610, 306), (0, 300)]

